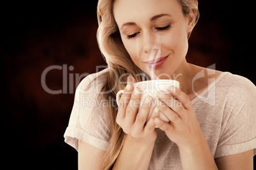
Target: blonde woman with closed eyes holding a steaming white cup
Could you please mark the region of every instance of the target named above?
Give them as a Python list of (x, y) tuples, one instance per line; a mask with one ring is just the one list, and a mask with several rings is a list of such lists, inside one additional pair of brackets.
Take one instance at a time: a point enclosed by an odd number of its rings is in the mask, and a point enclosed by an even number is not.
[[(187, 63), (197, 6), (197, 0), (99, 0), (97, 38), (108, 68), (80, 83), (64, 134), (80, 170), (253, 169), (256, 88), (245, 77)], [(162, 105), (146, 122), (150, 102), (138, 112), (141, 94), (133, 83), (155, 78), (152, 68), (180, 89), (159, 93)]]

